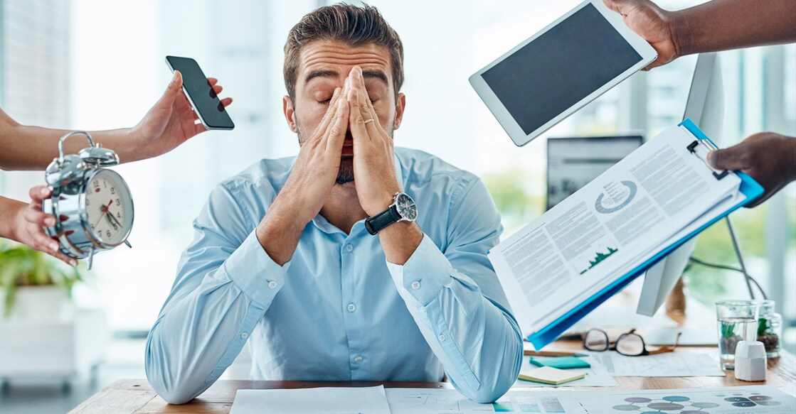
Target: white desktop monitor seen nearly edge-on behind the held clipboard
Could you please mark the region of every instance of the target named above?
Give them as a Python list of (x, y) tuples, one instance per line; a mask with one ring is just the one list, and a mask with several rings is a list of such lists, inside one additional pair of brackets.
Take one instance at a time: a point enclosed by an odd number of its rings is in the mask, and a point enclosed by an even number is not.
[[(685, 103), (685, 118), (691, 118), (700, 130), (719, 143), (724, 126), (724, 83), (716, 53), (702, 53), (696, 59), (689, 99)], [(646, 271), (637, 313), (652, 316), (661, 307), (688, 265), (695, 245), (696, 237)]]

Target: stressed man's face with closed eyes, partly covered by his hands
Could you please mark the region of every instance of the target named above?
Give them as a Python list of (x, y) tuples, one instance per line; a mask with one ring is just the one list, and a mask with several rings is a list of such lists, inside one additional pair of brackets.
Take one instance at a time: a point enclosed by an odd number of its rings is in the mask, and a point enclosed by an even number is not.
[[(384, 131), (392, 137), (393, 130), (400, 126), (404, 114), (404, 94), (396, 102), (392, 83), (392, 64), (384, 46), (365, 44), (349, 46), (339, 41), (316, 41), (306, 44), (298, 60), (295, 79), (295, 101), (283, 98), (283, 110), (287, 123), (298, 133), (298, 144), (312, 137), (321, 122), (334, 88), (343, 87), (351, 68), (359, 66), (365, 79), (365, 88), (373, 102), (373, 109)], [(341, 153), (338, 184), (353, 181), (353, 137), (345, 133)]]

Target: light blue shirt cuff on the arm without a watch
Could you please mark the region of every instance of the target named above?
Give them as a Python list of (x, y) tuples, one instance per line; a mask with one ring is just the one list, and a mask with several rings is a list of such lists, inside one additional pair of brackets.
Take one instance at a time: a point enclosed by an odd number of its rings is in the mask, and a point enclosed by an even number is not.
[(268, 308), (282, 288), (290, 265), (290, 261), (281, 266), (273, 261), (252, 231), (224, 261), (222, 269), (246, 296)]

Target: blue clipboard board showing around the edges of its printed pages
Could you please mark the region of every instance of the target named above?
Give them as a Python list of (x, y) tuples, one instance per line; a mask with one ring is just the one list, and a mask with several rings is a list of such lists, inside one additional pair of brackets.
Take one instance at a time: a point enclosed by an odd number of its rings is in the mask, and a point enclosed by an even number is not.
[[(716, 148), (716, 145), (713, 144), (713, 141), (710, 141), (710, 138), (708, 138), (708, 136), (705, 135), (704, 132), (702, 132), (702, 130), (700, 130), (699, 127), (696, 126), (693, 121), (691, 121), (691, 119), (686, 118), (685, 121), (680, 123), (680, 126), (685, 126), (685, 129), (689, 130), (694, 137), (700, 140), (706, 140), (710, 143), (710, 145), (713, 145), (713, 148)], [(677, 247), (680, 247), (683, 243), (688, 242), (691, 238), (696, 236), (696, 234), (700, 234), (703, 230), (709, 226), (712, 226), (713, 223), (719, 221), (720, 219), (724, 219), (724, 217), (732, 213), (732, 211), (736, 211), (740, 207), (743, 207), (747, 203), (757, 199), (760, 195), (763, 195), (763, 186), (758, 184), (757, 181), (751, 178), (751, 176), (738, 171), (736, 171), (736, 174), (741, 179), (739, 192), (743, 193), (743, 195), (746, 195), (746, 199), (731, 207), (728, 211), (724, 211), (720, 215), (716, 216), (715, 219), (712, 219), (704, 226), (694, 230), (693, 233), (685, 236), (685, 238), (681, 238), (677, 242), (667, 246), (664, 250), (661, 250), (660, 253), (657, 253), (654, 257), (651, 257), (650, 260), (645, 261), (637, 268), (630, 270), (630, 272), (626, 273), (626, 275), (619, 277), (606, 288), (603, 288), (603, 290), (597, 292), (595, 296), (591, 296), (591, 298), (583, 301), (583, 303), (579, 304), (575, 308), (572, 308), (571, 311), (568, 311), (559, 319), (556, 319), (552, 323), (548, 324), (548, 326), (543, 327), (539, 331), (529, 335), (528, 340), (533, 344), (533, 347), (537, 350), (540, 350), (543, 346), (555, 341), (562, 333), (564, 333), (564, 331), (568, 330), (569, 327), (572, 327), (572, 325), (574, 325), (580, 319), (583, 319), (583, 316), (588, 315), (589, 312), (593, 311), (600, 304), (603, 304), (603, 302), (605, 302), (608, 298), (620, 292), (622, 288), (627, 286), (627, 284), (630, 284), (631, 281), (634, 281), (637, 277), (641, 276), (644, 272), (646, 272), (647, 269), (650, 269), (650, 267), (655, 265), (658, 261), (661, 261), (661, 259), (669, 255), (669, 253), (677, 249)], [(716, 175), (716, 178), (720, 179), (720, 176)]]

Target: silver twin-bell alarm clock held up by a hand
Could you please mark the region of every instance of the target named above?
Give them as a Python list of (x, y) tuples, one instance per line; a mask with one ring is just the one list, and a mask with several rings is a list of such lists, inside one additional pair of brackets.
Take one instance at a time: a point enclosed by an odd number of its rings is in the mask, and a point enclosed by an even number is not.
[[(88, 139), (88, 148), (64, 155), (64, 141), (78, 134)], [(57, 238), (66, 256), (88, 257), (91, 269), (94, 253), (123, 243), (131, 247), (127, 242), (134, 215), (130, 188), (117, 172), (103, 168), (119, 164), (119, 156), (95, 144), (88, 132), (67, 133), (58, 141), (58, 152), (60, 157), (45, 172), (53, 195), (41, 209), (56, 219), (55, 226), (45, 227), (45, 232)]]

